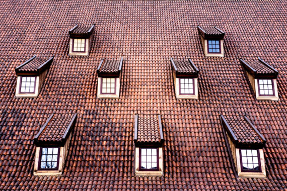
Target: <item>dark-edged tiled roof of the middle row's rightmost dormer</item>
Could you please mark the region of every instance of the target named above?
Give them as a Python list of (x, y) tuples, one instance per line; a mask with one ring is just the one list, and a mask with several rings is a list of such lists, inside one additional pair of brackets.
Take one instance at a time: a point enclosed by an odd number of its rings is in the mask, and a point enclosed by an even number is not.
[(244, 61), (240, 59), (240, 62), (245, 70), (255, 78), (277, 78), (278, 76), (278, 71), (264, 62), (260, 57), (256, 61)]

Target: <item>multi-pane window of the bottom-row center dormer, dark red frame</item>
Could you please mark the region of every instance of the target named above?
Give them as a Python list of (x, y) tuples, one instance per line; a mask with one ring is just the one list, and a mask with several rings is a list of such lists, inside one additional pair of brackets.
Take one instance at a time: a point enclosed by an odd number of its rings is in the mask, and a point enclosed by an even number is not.
[(159, 170), (158, 148), (139, 148), (139, 170)]

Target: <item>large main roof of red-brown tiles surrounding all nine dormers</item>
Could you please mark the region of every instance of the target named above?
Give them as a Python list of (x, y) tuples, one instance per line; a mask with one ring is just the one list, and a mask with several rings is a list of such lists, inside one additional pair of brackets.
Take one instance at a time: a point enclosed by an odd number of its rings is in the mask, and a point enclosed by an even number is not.
[[(0, 4), (0, 190), (285, 190), (287, 2), (23, 0)], [(68, 56), (71, 26), (95, 24), (89, 56)], [(223, 30), (205, 57), (197, 24)], [(15, 98), (15, 67), (53, 63), (37, 98)], [(119, 99), (97, 99), (102, 58), (124, 56)], [(280, 101), (257, 101), (238, 58), (279, 71)], [(175, 97), (170, 58), (200, 70), (198, 100)], [(78, 113), (61, 176), (33, 176), (33, 138), (49, 114)], [(161, 114), (162, 177), (134, 175), (134, 114)], [(247, 116), (266, 139), (266, 178), (236, 178), (220, 115)]]

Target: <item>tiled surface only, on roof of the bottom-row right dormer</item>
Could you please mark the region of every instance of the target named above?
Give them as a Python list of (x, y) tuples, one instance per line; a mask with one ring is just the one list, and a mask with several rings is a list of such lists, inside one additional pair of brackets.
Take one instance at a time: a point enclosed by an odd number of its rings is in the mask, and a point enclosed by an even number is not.
[(256, 144), (263, 142), (244, 118), (227, 118), (226, 120), (239, 143)]

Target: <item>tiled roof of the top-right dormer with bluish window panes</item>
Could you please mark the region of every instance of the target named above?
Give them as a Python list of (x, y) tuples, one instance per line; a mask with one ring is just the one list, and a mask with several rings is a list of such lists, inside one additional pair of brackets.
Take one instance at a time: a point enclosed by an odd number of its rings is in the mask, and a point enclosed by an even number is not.
[(200, 27), (197, 26), (199, 34), (207, 40), (222, 40), (225, 33), (217, 27)]

